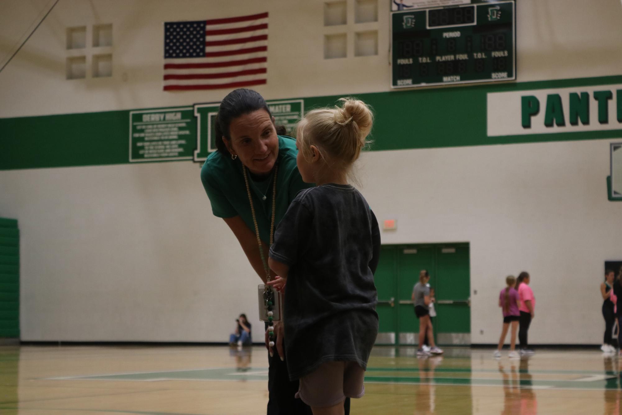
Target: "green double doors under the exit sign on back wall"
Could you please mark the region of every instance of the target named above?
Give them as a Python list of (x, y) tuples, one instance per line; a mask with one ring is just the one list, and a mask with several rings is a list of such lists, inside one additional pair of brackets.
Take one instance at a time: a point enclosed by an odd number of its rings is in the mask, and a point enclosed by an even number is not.
[(430, 273), (435, 290), (434, 337), (440, 345), (471, 343), (470, 266), (468, 243), (384, 245), (376, 275), (379, 333), (376, 344), (416, 345), (419, 320), (412, 287), (419, 271)]

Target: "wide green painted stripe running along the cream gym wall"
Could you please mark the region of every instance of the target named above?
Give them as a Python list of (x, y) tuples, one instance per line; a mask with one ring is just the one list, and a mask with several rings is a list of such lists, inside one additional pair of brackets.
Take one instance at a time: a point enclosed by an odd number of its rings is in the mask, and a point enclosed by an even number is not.
[[(622, 83), (622, 75), (357, 94), (376, 112), (373, 151), (605, 139), (622, 129), (488, 137), (490, 92)], [(304, 98), (305, 109), (340, 96)], [(129, 111), (0, 118), (0, 170), (129, 162)], [(516, 114), (520, 117), (520, 114)], [(193, 138), (192, 138), (193, 139)]]

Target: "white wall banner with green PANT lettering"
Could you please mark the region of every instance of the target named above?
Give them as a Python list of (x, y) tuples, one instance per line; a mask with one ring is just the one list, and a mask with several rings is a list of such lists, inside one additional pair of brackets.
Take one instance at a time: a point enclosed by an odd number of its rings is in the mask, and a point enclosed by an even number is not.
[(488, 136), (622, 129), (622, 84), (487, 95)]

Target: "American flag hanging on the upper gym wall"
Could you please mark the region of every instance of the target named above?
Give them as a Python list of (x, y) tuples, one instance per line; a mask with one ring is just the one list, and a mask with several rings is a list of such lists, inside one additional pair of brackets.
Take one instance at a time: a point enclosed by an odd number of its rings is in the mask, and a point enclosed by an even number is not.
[(268, 14), (164, 23), (164, 90), (266, 83)]

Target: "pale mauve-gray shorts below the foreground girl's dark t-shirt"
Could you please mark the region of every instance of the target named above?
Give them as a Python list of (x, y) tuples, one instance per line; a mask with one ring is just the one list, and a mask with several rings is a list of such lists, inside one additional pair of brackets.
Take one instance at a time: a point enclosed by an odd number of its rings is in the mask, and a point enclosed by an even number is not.
[(296, 398), (312, 408), (333, 406), (365, 394), (365, 371), (356, 361), (327, 361), (300, 378)]

